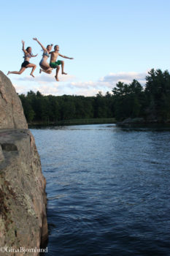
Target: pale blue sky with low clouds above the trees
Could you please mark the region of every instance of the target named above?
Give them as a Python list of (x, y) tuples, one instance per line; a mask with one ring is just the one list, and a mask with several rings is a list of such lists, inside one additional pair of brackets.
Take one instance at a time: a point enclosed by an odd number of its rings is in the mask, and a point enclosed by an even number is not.
[[(147, 72), (170, 64), (170, 0), (0, 0), (0, 70), (19, 71), (23, 39), (34, 54), (35, 78), (26, 69), (9, 75), (16, 91), (93, 96), (111, 92), (121, 80), (144, 85)], [(42, 45), (60, 46), (65, 72), (55, 81), (39, 74)], [(61, 57), (59, 59), (62, 59)]]

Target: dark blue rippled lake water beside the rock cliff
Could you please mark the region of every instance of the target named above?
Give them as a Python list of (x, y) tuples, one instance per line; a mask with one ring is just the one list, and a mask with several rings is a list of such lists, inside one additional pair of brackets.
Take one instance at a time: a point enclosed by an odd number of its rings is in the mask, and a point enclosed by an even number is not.
[(32, 129), (48, 256), (170, 255), (170, 129)]

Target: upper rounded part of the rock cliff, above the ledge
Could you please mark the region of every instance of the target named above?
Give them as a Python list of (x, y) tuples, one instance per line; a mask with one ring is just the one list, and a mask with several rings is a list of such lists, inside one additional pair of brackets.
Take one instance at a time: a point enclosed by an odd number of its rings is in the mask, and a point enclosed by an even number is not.
[(27, 129), (28, 125), (14, 86), (0, 71), (0, 129), (3, 128)]

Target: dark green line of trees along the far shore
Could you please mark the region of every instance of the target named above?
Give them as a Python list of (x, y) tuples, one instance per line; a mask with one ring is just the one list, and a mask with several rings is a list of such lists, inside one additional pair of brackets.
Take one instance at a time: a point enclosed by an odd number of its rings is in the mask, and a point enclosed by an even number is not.
[(29, 123), (39, 121), (57, 123), (83, 118), (144, 118), (167, 121), (170, 118), (170, 74), (166, 70), (151, 69), (145, 86), (137, 80), (126, 84), (118, 82), (110, 93), (94, 97), (77, 95), (42, 95), (29, 91), (19, 95)]

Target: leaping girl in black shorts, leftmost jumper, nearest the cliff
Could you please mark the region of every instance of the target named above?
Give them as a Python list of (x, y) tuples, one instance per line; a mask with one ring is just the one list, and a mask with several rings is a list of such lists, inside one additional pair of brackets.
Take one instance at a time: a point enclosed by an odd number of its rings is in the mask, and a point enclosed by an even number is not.
[(22, 73), (27, 69), (27, 67), (32, 67), (32, 71), (31, 71), (31, 74), (30, 74), (30, 75), (32, 75), (33, 78), (34, 78), (33, 73), (34, 73), (34, 70), (36, 69), (36, 65), (35, 65), (35, 64), (31, 64), (31, 63), (29, 62), (29, 59), (30, 59), (31, 57), (36, 57), (38, 54), (33, 55), (33, 54), (31, 53), (31, 51), (32, 51), (31, 47), (28, 47), (28, 48), (26, 48), (26, 50), (25, 50), (25, 42), (22, 41), (22, 43), (23, 43), (23, 52), (25, 53), (25, 56), (23, 57), (23, 58), (24, 58), (24, 61), (23, 61), (23, 63), (21, 64), (20, 71), (8, 71), (7, 75), (9, 75), (9, 74), (18, 74), (18, 75), (20, 75), (20, 74), (22, 74)]

